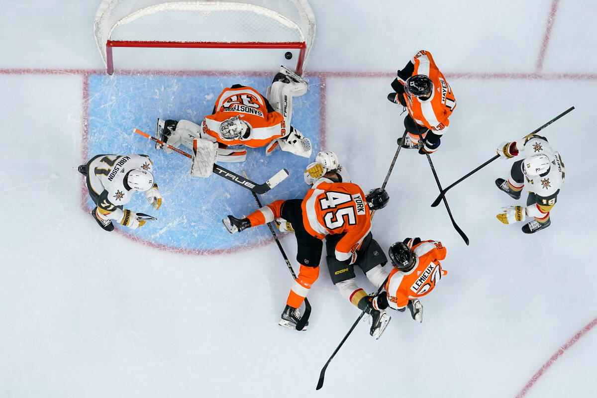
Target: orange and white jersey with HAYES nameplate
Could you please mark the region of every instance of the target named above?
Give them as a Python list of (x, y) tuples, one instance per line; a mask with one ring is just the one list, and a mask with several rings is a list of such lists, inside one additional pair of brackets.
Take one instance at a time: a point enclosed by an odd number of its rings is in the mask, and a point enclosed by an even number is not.
[[(456, 107), (454, 92), (448, 85), (444, 75), (439, 72), (429, 51), (418, 51), (411, 62), (414, 64), (413, 76), (428, 76), (433, 82), (433, 92), (427, 100), (420, 100), (404, 93), (408, 113), (417, 124), (433, 130), (437, 135), (445, 134), (448, 125), (450, 125), (448, 117)], [(404, 84), (404, 80), (400, 76), (398, 76), (398, 79)]]

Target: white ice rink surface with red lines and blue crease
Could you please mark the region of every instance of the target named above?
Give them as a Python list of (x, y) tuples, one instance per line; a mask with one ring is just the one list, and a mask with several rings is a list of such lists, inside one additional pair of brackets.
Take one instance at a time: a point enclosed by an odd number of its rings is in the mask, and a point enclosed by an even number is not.
[[(597, 5), (310, 3), (309, 91), (295, 98), (293, 125), (315, 150), (336, 151), (365, 192), (381, 186), (404, 131), (401, 109), (386, 100), (390, 82), (429, 50), (457, 100), (432, 155), (444, 187), (502, 141), (576, 107), (542, 131), (567, 171), (552, 226), (524, 235), (522, 224), (498, 222), (500, 207), (515, 204), (494, 185), (512, 162), (498, 159), (447, 195), (466, 246), (445, 208), (429, 206), (438, 187), (426, 159), (401, 152), (373, 235), (384, 249), (405, 237), (441, 240), (448, 274), (421, 300), (423, 323), (390, 313), (376, 341), (361, 322), (316, 391), (359, 315), (324, 261), (309, 330), (280, 328), (292, 279), (269, 231), (231, 236), (219, 221), (252, 211), (250, 192), (190, 177), (185, 158), (132, 132), (152, 132), (158, 117), (199, 120), (235, 82), (263, 91), (284, 51), (118, 49), (109, 78), (93, 39), (96, 1), (0, 2), (1, 397), (597, 396), (588, 178), (597, 166)], [(76, 171), (96, 152), (152, 156), (164, 205), (131, 207), (158, 221), (132, 233), (96, 225)], [(259, 181), (288, 168), (267, 202), (304, 193), (308, 162), (254, 150), (230, 168)], [(294, 238), (281, 242), (298, 271)], [(357, 280), (374, 291), (360, 271)]]

